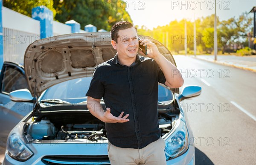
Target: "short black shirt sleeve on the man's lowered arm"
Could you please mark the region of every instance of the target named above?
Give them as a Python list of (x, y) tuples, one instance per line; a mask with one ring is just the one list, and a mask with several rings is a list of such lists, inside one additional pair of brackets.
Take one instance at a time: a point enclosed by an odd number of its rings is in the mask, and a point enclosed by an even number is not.
[(86, 93), (86, 96), (92, 98), (101, 99), (104, 95), (104, 85), (101, 81), (101, 72), (100, 68), (96, 67), (93, 72), (93, 77), (90, 82), (89, 90)]

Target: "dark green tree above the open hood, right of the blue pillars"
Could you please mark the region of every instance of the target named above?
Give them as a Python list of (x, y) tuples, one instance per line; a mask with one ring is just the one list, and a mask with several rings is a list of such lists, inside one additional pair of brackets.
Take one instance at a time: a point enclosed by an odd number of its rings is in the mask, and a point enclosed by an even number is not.
[(126, 3), (106, 0), (53, 0), (53, 7), (59, 22), (76, 20), (81, 29), (87, 24), (93, 24), (97, 29), (110, 30), (117, 21), (130, 21), (131, 17), (125, 10)]

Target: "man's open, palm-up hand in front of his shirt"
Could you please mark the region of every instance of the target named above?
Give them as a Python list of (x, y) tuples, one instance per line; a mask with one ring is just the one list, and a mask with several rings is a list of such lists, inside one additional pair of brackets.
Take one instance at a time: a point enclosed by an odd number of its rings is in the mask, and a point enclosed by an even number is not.
[[(123, 116), (124, 112), (121, 112), (121, 114), (116, 117), (113, 116), (112, 113), (110, 113), (110, 108), (107, 108), (105, 113), (102, 115), (102, 121), (106, 123), (124, 123), (124, 122), (129, 122), (129, 119), (126, 119), (129, 114), (126, 114)], [(123, 117), (122, 117), (123, 116)]]

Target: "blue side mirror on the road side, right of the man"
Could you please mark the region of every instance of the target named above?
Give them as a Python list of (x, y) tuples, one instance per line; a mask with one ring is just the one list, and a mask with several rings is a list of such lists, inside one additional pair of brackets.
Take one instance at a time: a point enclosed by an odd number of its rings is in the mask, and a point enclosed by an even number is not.
[(186, 98), (199, 96), (201, 92), (202, 92), (202, 88), (199, 86), (187, 86), (183, 88), (183, 91), (179, 96), (179, 100), (182, 101)]

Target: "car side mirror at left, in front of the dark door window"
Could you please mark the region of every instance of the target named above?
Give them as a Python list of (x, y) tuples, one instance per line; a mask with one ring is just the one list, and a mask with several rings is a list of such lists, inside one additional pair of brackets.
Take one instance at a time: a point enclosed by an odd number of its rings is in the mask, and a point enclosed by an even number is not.
[(34, 98), (27, 89), (15, 90), (10, 93), (10, 98), (12, 101), (16, 102), (33, 102)]

